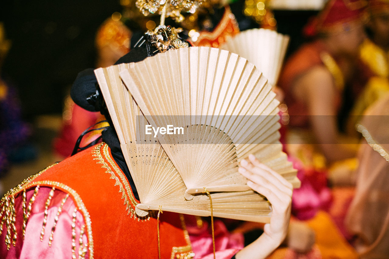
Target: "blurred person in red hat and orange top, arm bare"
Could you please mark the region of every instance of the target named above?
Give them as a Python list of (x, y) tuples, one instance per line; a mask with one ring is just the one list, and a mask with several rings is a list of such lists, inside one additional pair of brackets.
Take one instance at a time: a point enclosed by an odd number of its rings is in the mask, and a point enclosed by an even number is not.
[[(328, 163), (356, 154), (355, 147), (340, 145), (337, 121), (345, 88), (356, 75), (359, 47), (365, 38), (363, 7), (364, 1), (360, 0), (330, 0), (305, 28), (305, 34), (314, 41), (301, 46), (280, 75), (289, 128), (292, 132), (298, 129), (291, 135), (305, 144), (317, 144)], [(303, 160), (307, 159), (315, 157)]]

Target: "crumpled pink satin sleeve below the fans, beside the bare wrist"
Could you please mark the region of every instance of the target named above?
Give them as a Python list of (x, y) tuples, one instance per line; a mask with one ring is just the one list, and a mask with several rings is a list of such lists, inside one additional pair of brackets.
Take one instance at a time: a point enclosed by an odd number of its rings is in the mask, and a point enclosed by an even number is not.
[[(195, 217), (186, 215), (186, 228), (192, 243), (196, 258), (214, 258), (212, 245), (212, 229), (208, 222), (203, 221), (200, 228)], [(244, 247), (244, 237), (241, 233), (230, 234), (220, 220), (214, 221), (216, 258), (230, 259)]]

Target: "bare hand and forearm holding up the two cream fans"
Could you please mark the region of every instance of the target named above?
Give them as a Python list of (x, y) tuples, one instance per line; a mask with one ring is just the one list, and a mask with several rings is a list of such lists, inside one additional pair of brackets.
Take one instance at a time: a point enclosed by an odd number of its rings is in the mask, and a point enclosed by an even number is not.
[(250, 155), (249, 161), (240, 162), (239, 172), (249, 179), (247, 185), (265, 196), (272, 204), (270, 223), (264, 233), (236, 254), (236, 258), (266, 258), (285, 239), (291, 214), (293, 186), (284, 177), (259, 163)]

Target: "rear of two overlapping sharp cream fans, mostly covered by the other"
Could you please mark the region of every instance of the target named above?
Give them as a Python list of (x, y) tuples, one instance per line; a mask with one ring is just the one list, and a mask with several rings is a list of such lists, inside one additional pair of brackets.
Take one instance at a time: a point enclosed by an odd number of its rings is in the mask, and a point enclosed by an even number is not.
[[(134, 63), (99, 68), (95, 74), (116, 128), (121, 149), (140, 202), (136, 213), (148, 210), (211, 215), (210, 199), (205, 194), (185, 196), (186, 186), (158, 141), (144, 132), (148, 124), (139, 107), (119, 77), (119, 72), (133, 69)], [(212, 193), (213, 215), (246, 221), (268, 222), (270, 204), (254, 191)]]

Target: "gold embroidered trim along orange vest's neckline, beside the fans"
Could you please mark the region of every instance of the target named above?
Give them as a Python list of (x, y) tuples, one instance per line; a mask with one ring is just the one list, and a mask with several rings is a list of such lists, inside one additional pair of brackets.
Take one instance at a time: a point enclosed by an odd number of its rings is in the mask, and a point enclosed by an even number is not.
[[(101, 153), (101, 149), (103, 150), (103, 154)], [(144, 220), (148, 221), (150, 219), (150, 216), (143, 218), (143, 217), (138, 217), (137, 214), (135, 213), (135, 206), (138, 204), (138, 202), (135, 200), (133, 196), (133, 193), (128, 184), (126, 176), (115, 165), (114, 161), (109, 155), (108, 145), (105, 143), (96, 145), (93, 151), (93, 156), (95, 156), (94, 159), (98, 160), (97, 163), (102, 164), (102, 168), (106, 169), (106, 173), (109, 173), (111, 175), (110, 179), (115, 180), (115, 186), (119, 186), (119, 193), (123, 193), (122, 199), (124, 199), (124, 205), (126, 205), (126, 210), (128, 210), (128, 214), (130, 214), (130, 217), (134, 217), (134, 219), (138, 219), (138, 221), (144, 221)], [(110, 165), (108, 165), (105, 162), (104, 158), (107, 159)], [(111, 170), (111, 168), (114, 169), (116, 174)], [(121, 181), (119, 180), (117, 175), (119, 175)], [(124, 187), (122, 183), (124, 184)]]

